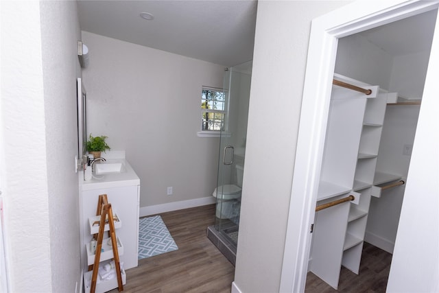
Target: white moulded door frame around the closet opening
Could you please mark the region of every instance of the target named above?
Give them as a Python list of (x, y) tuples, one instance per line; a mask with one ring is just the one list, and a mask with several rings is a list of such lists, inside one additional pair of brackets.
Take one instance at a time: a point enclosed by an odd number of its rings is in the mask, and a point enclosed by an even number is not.
[(305, 291), (338, 38), (434, 10), (438, 3), (355, 1), (312, 21), (279, 292)]

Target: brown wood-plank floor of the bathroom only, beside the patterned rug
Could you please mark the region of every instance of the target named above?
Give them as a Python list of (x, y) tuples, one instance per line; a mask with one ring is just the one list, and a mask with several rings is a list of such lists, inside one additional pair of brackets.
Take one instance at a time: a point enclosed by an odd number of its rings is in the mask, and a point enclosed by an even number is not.
[(126, 270), (123, 292), (229, 293), (235, 267), (207, 239), (207, 227), (214, 224), (215, 205), (160, 215), (178, 250), (140, 259), (137, 268)]

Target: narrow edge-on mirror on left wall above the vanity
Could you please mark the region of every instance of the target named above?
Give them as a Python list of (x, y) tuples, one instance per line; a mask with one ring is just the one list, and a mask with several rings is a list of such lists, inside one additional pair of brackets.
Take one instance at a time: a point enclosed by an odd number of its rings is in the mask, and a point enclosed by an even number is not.
[[(77, 79), (78, 89), (78, 170), (83, 169), (83, 160), (87, 155), (86, 131), (86, 91), (82, 78)], [(85, 159), (84, 159), (85, 157)]]

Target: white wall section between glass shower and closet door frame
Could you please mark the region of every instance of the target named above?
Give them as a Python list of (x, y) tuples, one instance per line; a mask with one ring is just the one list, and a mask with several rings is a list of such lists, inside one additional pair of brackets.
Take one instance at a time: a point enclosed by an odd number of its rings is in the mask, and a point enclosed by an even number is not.
[(311, 19), (346, 3), (258, 3), (234, 283), (241, 292), (279, 290)]

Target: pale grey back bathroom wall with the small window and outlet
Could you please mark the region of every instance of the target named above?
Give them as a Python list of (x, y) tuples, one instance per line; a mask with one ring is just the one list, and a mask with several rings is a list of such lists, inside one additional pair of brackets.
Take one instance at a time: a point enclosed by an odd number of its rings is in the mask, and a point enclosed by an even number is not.
[(224, 67), (89, 32), (82, 40), (87, 131), (126, 150), (141, 179), (141, 207), (212, 198), (219, 139), (197, 132), (202, 86), (222, 88)]

